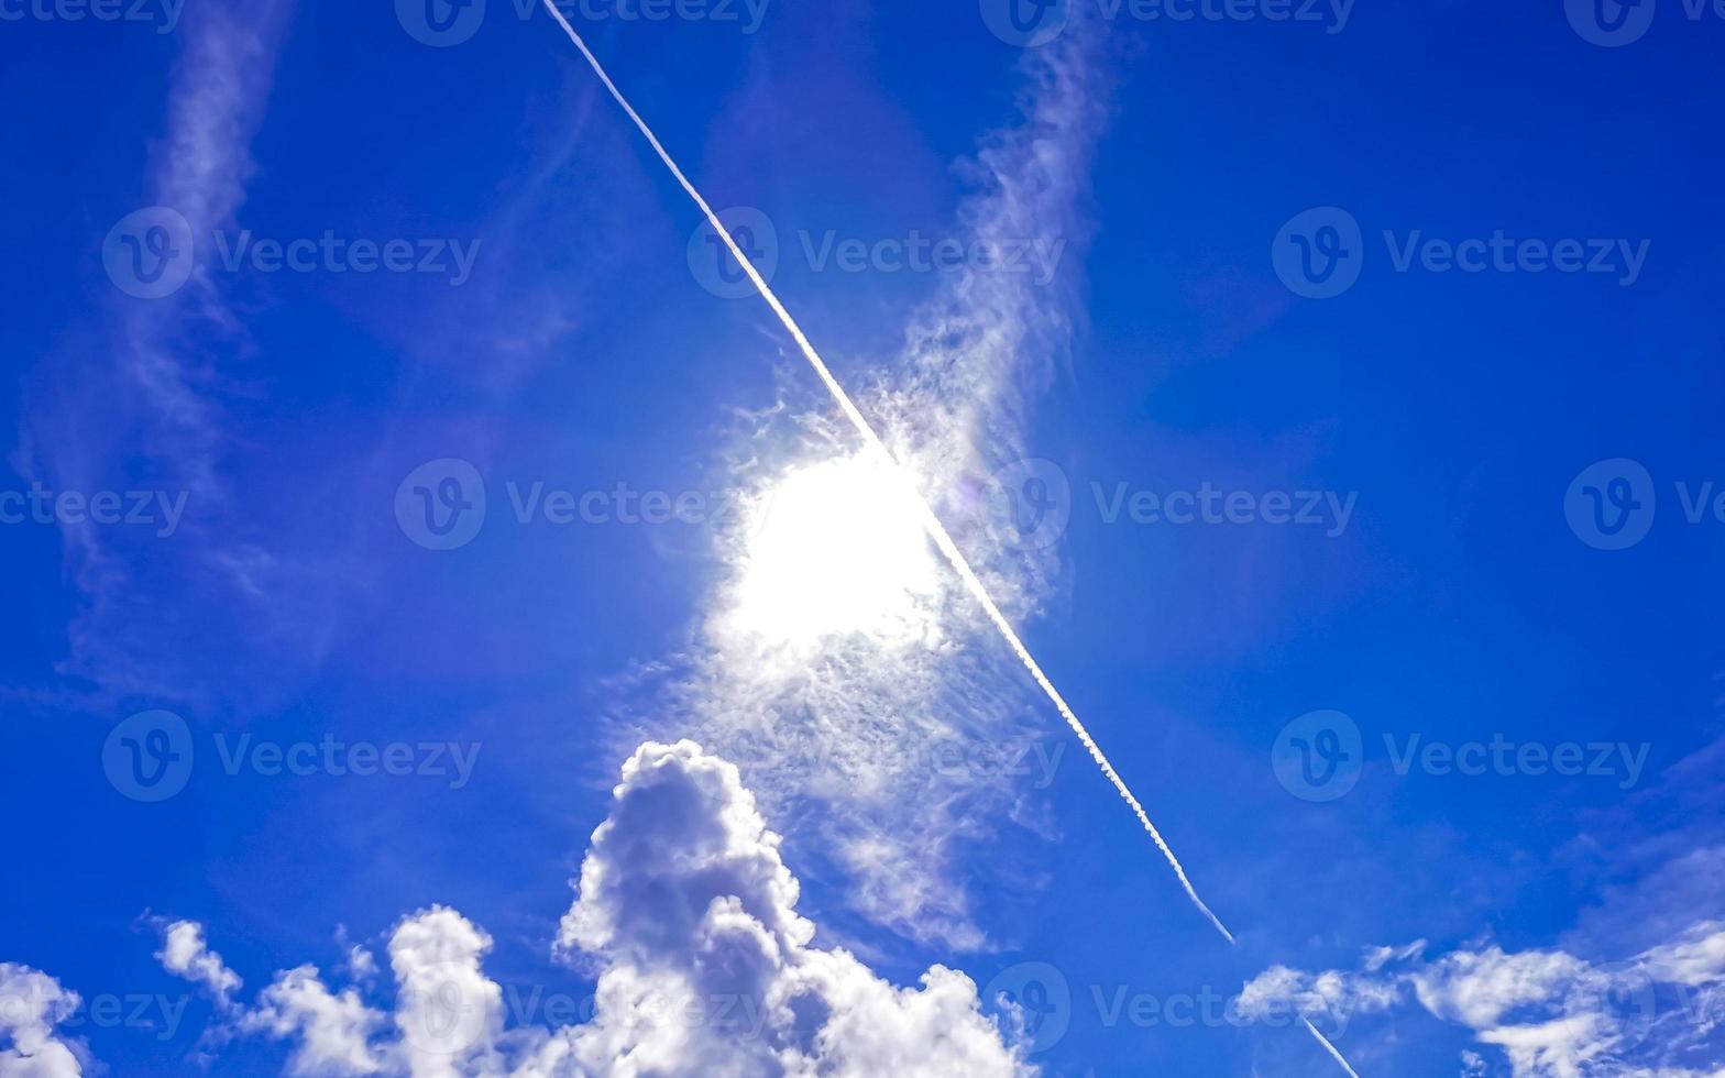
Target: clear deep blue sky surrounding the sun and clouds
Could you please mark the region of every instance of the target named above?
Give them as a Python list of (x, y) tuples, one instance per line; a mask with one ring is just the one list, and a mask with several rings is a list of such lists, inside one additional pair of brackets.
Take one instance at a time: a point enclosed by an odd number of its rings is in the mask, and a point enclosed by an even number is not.
[[(28, 486), (31, 455), (97, 485), (136, 474), (110, 329), (133, 300), (104, 276), (102, 241), (147, 198), (198, 3), (176, 34), (0, 24), (0, 428), (17, 448), (0, 488)], [(1554, 945), (1647, 871), (1616, 852), (1694, 823), (1658, 790), (1725, 733), (1725, 524), (1687, 524), (1672, 488), (1725, 483), (1725, 22), (1670, 5), (1647, 40), (1603, 50), (1551, 0), (1363, 2), (1339, 34), (1121, 21), (1109, 36), (1088, 326), (1030, 438), (1073, 478), (1068, 580), (1025, 635), (1244, 945), (1197, 921), (1075, 747), (1051, 790), (1064, 840), (1026, 852), (1045, 887), (976, 866), (1002, 952), (940, 954), (844, 921), (840, 878), (802, 873), (806, 907), (900, 981), (933, 961), (978, 983), (1059, 966), (1078, 1002), (1052, 1073), (1327, 1073), (1292, 1030), (1107, 1028), (1092, 987), (1233, 993), (1271, 961), (1347, 966), (1413, 938)], [(950, 164), (1013, 116), (1018, 50), (971, 3), (785, 0), (754, 36), (611, 22), (593, 43), (711, 198), (762, 207), (785, 235), (950, 229), (964, 193)], [(697, 285), (692, 209), (542, 16), (495, 14), (433, 50), (388, 3), (302, 0), (252, 157), (242, 228), (481, 238), (478, 271), (461, 290), (411, 274), (224, 281), (245, 345), (224, 345), (217, 379), (217, 516), (292, 566), (262, 597), (236, 595), (191, 535), (129, 536), (128, 631), (79, 643), (90, 599), (62, 531), (0, 526), (0, 959), (86, 997), (181, 995), (141, 918), (185, 916), (255, 988), (335, 962), (338, 924), (374, 940), (445, 902), (497, 937), (497, 980), (581, 992), (545, 947), (618, 764), (600, 719), (630, 692), (623, 671), (683, 645), (712, 564), (697, 530), (516, 526), (500, 483), (486, 531), (435, 554), (397, 528), (395, 486), (464, 457), (573, 490), (709, 488), (730, 411), (802, 373), (762, 307)], [(1366, 233), (1361, 281), (1327, 302), (1292, 295), (1270, 260), (1314, 205)], [(1632, 288), (1401, 274), (1383, 229), (1649, 240), (1651, 255)], [(776, 286), (840, 376), (861, 378), (930, 281), (787, 259)], [(1658, 523), (1627, 552), (1565, 523), (1570, 481), (1606, 457), (1659, 485)], [(1340, 538), (1106, 524), (1092, 483), (1121, 481), (1359, 502)], [(143, 676), (91, 676), (109, 661)], [(200, 736), (471, 740), (483, 755), (464, 790), (200, 768), (181, 797), (136, 804), (104, 778), (102, 743), (147, 707)], [(1278, 730), (1314, 709), (1366, 736), (1359, 788), (1330, 805), (1290, 797), (1268, 762)], [(1397, 776), (1382, 749), (1385, 733), (1499, 731), (1649, 742), (1649, 773), (1632, 792)], [(116, 1075), (178, 1075), (204, 1007), (167, 1040), (76, 1033)], [(1432, 1019), (1394, 1035), (1390, 1050), (1361, 1019), (1356, 1066), (1452, 1075), (1466, 1044)], [(210, 1069), (278, 1066), (247, 1042)]]

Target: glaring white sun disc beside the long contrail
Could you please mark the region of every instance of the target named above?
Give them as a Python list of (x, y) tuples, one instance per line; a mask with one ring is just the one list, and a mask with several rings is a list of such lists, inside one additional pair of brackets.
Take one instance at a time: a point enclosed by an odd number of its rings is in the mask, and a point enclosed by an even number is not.
[(799, 467), (766, 493), (731, 617), (797, 649), (847, 633), (911, 643), (933, 630), (938, 588), (916, 493), (864, 454)]

